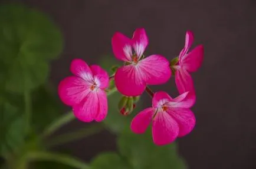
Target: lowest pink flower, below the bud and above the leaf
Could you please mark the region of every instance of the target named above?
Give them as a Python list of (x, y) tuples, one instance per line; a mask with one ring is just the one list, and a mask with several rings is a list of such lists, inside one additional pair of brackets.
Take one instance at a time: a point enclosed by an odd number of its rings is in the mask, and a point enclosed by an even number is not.
[(189, 134), (195, 127), (195, 116), (189, 109), (195, 103), (185, 92), (171, 98), (166, 92), (156, 92), (151, 108), (139, 112), (132, 121), (131, 128), (136, 134), (142, 134), (152, 123), (153, 142), (166, 145), (177, 137)]

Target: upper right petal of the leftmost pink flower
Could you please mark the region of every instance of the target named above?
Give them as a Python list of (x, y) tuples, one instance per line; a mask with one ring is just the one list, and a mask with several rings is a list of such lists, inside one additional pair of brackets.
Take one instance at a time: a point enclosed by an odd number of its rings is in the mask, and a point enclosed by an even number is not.
[(99, 81), (100, 88), (104, 89), (109, 87), (109, 75), (107, 72), (98, 65), (91, 65), (91, 72), (93, 72), (94, 80)]

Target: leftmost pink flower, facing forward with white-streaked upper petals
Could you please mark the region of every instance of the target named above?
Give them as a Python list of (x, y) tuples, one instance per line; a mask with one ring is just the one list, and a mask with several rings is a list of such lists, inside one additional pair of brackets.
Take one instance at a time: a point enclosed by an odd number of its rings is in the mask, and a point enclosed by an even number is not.
[(61, 100), (73, 107), (74, 115), (81, 121), (102, 121), (107, 115), (109, 75), (98, 65), (88, 67), (81, 59), (71, 62), (74, 76), (64, 78), (58, 86)]

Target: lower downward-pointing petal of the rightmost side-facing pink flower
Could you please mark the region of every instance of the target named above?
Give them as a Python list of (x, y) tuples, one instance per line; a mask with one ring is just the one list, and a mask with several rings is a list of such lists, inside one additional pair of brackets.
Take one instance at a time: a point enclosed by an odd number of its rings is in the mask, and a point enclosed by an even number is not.
[(195, 90), (193, 87), (193, 80), (191, 78), (191, 75), (189, 75), (189, 73), (186, 70), (183, 70), (182, 68), (179, 68), (176, 70), (175, 82), (176, 82), (176, 86), (178, 88), (179, 94), (183, 94), (186, 91), (195, 93)]

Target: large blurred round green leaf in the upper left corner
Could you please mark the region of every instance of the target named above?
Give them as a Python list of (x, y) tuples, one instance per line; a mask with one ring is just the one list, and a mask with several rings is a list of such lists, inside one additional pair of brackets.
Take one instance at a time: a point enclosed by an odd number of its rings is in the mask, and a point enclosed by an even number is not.
[(24, 92), (45, 82), (63, 38), (50, 19), (22, 5), (0, 6), (0, 87)]

